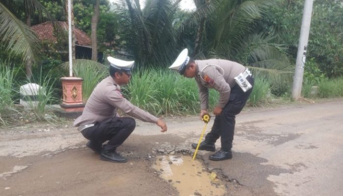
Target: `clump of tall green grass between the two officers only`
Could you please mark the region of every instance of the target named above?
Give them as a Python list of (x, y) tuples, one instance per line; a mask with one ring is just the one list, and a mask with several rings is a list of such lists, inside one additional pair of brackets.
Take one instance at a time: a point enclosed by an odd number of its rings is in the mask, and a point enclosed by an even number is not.
[(124, 92), (130, 102), (156, 115), (192, 114), (198, 110), (195, 81), (169, 70), (135, 72)]

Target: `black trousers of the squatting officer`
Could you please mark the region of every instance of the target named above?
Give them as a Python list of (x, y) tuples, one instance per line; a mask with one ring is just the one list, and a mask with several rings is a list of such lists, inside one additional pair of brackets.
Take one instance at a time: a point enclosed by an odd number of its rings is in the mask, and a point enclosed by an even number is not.
[(94, 126), (81, 131), (83, 137), (95, 144), (108, 143), (103, 147), (105, 151), (115, 151), (123, 144), (136, 127), (136, 121), (130, 117), (106, 119), (95, 123)]

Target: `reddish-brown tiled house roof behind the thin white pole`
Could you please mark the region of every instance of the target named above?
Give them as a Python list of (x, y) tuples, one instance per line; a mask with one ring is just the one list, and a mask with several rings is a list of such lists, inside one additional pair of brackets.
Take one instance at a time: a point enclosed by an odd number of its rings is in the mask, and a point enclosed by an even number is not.
[[(68, 31), (68, 24), (64, 21), (59, 21), (59, 25), (66, 31)], [(42, 23), (39, 25), (31, 26), (32, 30), (35, 31), (36, 35), (41, 40), (48, 40), (51, 42), (56, 42), (56, 37), (54, 35), (54, 30), (51, 22)], [(88, 35), (78, 28), (74, 28), (75, 32), (75, 45), (83, 47), (92, 47), (92, 40)]]

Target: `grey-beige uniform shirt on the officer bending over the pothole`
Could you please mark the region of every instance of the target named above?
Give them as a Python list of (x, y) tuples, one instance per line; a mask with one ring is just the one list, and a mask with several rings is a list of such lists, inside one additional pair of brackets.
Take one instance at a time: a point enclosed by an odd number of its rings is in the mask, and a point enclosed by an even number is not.
[(229, 101), (231, 88), (236, 85), (234, 78), (243, 73), (245, 67), (239, 63), (222, 59), (196, 60), (195, 62), (195, 79), (199, 87), (201, 109), (208, 109), (209, 88), (219, 92), (218, 105), (223, 108)]

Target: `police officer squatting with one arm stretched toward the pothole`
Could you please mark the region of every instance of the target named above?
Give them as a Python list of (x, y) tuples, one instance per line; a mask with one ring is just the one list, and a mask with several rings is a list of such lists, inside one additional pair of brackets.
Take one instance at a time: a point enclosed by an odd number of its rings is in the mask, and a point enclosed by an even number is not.
[[(166, 123), (132, 105), (121, 93), (121, 85), (127, 84), (131, 78), (134, 61), (123, 61), (107, 57), (111, 66), (110, 75), (103, 79), (93, 90), (87, 100), (82, 115), (73, 125), (89, 140), (87, 147), (100, 154), (100, 159), (110, 162), (126, 162), (126, 158), (117, 151), (136, 127), (130, 117), (120, 117), (117, 109), (144, 122), (156, 123), (161, 132), (167, 131)], [(104, 146), (105, 141), (108, 141)]]

